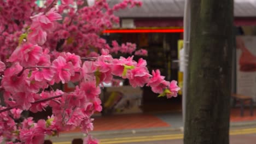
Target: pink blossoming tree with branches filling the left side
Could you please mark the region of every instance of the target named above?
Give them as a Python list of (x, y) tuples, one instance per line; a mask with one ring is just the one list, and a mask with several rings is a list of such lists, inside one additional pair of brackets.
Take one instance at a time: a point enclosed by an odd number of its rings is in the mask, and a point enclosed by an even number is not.
[[(100, 37), (119, 18), (113, 11), (141, 5), (125, 0), (109, 7), (98, 0), (84, 7), (82, 0), (55, 0), (40, 8), (35, 0), (0, 1), (0, 74), (4, 106), (0, 106), (0, 142), (43, 143), (44, 136), (80, 127), (88, 134), (93, 129), (91, 118), (102, 110), (99, 94), (103, 82), (113, 76), (128, 79), (132, 87), (152, 87), (167, 98), (176, 97), (176, 81), (165, 81), (159, 70), (152, 74), (147, 62), (133, 56), (113, 58), (109, 53), (133, 53), (135, 44), (112, 46)], [(75, 7), (74, 7), (75, 6)], [(146, 53), (136, 51), (138, 55)], [(74, 92), (51, 88), (55, 83), (78, 82)], [(49, 90), (50, 89), (50, 90)], [(46, 120), (24, 118), (22, 111), (39, 112), (51, 107), (53, 115)], [(90, 135), (84, 143), (97, 143)]]

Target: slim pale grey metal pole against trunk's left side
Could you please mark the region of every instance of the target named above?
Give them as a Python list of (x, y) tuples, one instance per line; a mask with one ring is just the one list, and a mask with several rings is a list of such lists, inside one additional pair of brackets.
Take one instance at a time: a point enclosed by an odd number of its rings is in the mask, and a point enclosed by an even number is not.
[(188, 81), (188, 56), (189, 56), (189, 40), (190, 40), (190, 0), (185, 0), (184, 5), (184, 17), (183, 17), (183, 49), (185, 56), (185, 67), (183, 73), (183, 91), (182, 91), (182, 117), (183, 117), (183, 127), (185, 125), (185, 108), (186, 108), (186, 97), (187, 97), (187, 81)]

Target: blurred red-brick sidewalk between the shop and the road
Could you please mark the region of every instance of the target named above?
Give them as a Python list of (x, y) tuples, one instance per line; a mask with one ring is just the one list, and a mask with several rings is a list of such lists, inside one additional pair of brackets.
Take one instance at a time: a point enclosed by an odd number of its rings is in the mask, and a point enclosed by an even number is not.
[[(230, 128), (256, 125), (256, 109), (254, 116), (245, 110), (240, 116), (240, 109), (232, 109)], [(95, 117), (93, 135), (110, 135), (126, 133), (145, 133), (147, 131), (181, 130), (183, 127), (182, 113), (138, 113)], [(79, 129), (62, 134), (79, 133)]]

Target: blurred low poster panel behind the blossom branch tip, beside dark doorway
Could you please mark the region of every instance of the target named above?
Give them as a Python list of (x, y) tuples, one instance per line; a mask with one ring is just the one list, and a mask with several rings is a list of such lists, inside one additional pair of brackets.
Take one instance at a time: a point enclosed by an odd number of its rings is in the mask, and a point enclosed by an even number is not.
[(131, 86), (108, 87), (104, 93), (104, 113), (142, 113), (141, 88)]

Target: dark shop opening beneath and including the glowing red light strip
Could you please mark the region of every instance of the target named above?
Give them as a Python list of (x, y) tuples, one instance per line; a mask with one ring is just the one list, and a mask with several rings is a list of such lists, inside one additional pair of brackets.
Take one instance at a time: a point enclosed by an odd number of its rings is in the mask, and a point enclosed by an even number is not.
[[(142, 56), (147, 60), (148, 69), (159, 69), (166, 80), (178, 79), (177, 41), (182, 39), (183, 29), (181, 27), (139, 27), (133, 29), (112, 29), (106, 31), (104, 38), (109, 42), (117, 40), (119, 44), (131, 42), (137, 45), (137, 49), (146, 49), (148, 56)], [(119, 57), (117, 55), (116, 57)], [(129, 55), (126, 55), (129, 56)], [(135, 56), (135, 60), (141, 56)], [(143, 112), (174, 110), (170, 102), (177, 106), (181, 104), (181, 98), (166, 99), (158, 98), (149, 87), (143, 87), (142, 109)], [(152, 109), (154, 107), (154, 110)], [(180, 107), (176, 110), (180, 110)]]

